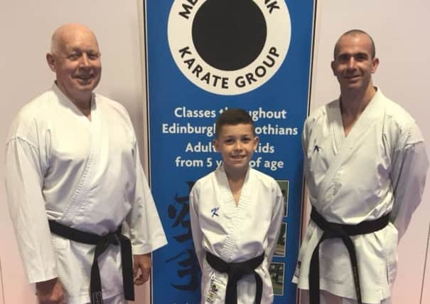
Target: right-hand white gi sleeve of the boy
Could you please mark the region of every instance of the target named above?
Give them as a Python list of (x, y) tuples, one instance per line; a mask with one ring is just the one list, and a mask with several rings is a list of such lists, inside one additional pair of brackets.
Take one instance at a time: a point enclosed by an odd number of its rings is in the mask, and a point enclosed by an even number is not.
[(276, 243), (279, 239), (279, 233), (281, 232), (281, 224), (284, 219), (284, 196), (282, 196), (279, 185), (275, 182), (274, 188), (274, 201), (272, 207), (272, 222), (267, 231), (267, 249), (266, 258), (267, 263), (272, 263), (273, 254), (275, 251)]

